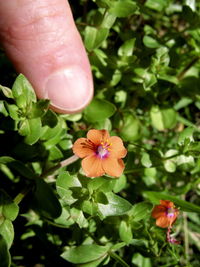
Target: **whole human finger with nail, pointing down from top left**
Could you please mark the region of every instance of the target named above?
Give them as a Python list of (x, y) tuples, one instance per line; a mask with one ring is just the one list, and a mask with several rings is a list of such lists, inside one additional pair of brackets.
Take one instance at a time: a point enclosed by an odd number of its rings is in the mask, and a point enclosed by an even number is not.
[(93, 96), (90, 64), (67, 0), (0, 1), (0, 38), (18, 72), (60, 113)]

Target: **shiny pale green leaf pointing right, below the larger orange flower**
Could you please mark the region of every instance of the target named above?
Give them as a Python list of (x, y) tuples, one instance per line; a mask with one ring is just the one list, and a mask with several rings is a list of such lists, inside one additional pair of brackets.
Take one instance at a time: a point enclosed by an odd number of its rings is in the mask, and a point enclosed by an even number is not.
[(112, 192), (105, 193), (108, 204), (98, 203), (98, 209), (103, 217), (123, 215), (129, 211), (132, 205), (122, 197)]

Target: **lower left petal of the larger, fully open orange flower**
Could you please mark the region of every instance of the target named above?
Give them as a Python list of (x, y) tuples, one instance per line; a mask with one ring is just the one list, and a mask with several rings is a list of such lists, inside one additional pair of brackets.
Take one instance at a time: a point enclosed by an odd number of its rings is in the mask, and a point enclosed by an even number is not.
[(86, 157), (81, 162), (82, 168), (88, 177), (99, 177), (105, 174), (102, 161), (96, 155)]

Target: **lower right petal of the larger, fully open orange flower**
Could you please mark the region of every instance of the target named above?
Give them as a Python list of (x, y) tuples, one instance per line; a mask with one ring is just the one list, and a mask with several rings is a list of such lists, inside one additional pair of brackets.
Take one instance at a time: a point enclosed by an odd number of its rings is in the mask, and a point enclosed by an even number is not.
[(102, 166), (105, 173), (114, 177), (121, 176), (124, 170), (124, 162), (122, 159), (110, 157), (102, 159)]

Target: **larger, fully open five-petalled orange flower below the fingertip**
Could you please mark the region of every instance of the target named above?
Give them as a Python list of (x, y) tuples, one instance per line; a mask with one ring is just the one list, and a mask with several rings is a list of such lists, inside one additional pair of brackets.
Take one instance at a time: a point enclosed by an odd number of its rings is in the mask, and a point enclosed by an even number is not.
[(109, 135), (107, 130), (92, 129), (87, 138), (79, 138), (73, 145), (73, 152), (82, 160), (82, 168), (87, 176), (98, 177), (105, 173), (119, 177), (124, 170), (121, 158), (126, 149), (121, 138)]

